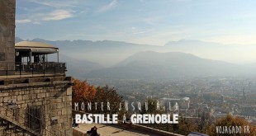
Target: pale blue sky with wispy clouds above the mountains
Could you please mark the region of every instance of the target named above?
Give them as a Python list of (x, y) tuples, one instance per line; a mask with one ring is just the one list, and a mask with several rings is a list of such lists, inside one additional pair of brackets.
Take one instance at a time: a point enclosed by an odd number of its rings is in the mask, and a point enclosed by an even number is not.
[(256, 44), (254, 0), (17, 0), (24, 40), (175, 40)]

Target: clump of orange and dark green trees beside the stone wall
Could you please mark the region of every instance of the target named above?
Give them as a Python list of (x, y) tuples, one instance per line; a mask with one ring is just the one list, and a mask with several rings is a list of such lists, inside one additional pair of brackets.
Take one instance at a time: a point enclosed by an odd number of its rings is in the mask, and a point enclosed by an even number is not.
[[(89, 112), (96, 114), (120, 114), (124, 113), (119, 110), (122, 97), (119, 96), (114, 87), (94, 87), (87, 81), (74, 80), (73, 86), (73, 103), (74, 102), (91, 102), (92, 110)], [(110, 108), (108, 109), (107, 104)]]

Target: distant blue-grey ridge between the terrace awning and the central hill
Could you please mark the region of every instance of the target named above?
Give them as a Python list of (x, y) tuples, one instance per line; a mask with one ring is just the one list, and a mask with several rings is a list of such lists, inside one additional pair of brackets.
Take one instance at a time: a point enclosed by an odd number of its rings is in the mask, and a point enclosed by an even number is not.
[(75, 59), (87, 59), (89, 61), (100, 63), (105, 67), (109, 67), (128, 56), (135, 54), (141, 50), (158, 50), (153, 45), (137, 45), (120, 41), (102, 40), (41, 40), (33, 41), (45, 42), (59, 47), (62, 54)]

